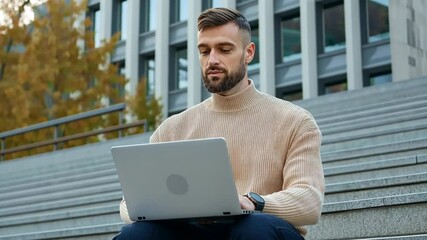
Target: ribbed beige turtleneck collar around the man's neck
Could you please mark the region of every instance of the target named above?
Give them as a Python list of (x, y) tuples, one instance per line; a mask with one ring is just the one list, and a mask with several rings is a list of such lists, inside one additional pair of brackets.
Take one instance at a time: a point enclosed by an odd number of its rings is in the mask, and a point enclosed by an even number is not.
[(249, 79), (249, 86), (230, 96), (212, 94), (206, 102), (206, 107), (215, 112), (238, 112), (257, 104), (261, 93), (255, 88), (254, 82)]

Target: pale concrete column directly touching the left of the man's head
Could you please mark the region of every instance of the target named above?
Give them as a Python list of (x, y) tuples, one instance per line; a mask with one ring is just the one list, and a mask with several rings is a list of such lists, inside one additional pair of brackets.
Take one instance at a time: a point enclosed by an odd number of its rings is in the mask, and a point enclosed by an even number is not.
[(202, 1), (189, 0), (187, 21), (187, 58), (188, 58), (188, 87), (187, 107), (200, 103), (202, 100), (202, 80), (197, 49), (197, 18), (202, 11)]

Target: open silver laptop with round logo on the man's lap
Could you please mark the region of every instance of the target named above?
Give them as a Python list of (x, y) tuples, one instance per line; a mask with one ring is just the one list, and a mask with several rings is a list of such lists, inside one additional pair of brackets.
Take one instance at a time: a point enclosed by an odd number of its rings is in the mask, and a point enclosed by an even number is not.
[(111, 148), (133, 221), (249, 214), (240, 208), (223, 138)]

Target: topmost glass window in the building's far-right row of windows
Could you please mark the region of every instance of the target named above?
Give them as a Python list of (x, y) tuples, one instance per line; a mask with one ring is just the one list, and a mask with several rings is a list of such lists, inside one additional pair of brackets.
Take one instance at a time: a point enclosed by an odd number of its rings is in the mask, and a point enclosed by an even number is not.
[(368, 42), (389, 39), (388, 0), (368, 0)]

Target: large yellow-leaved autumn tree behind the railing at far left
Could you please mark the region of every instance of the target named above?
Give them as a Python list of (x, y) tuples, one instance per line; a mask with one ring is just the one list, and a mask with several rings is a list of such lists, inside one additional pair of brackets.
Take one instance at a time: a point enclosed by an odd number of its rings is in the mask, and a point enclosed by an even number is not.
[[(99, 108), (105, 99), (125, 101), (119, 89), (126, 79), (117, 66), (108, 64), (119, 34), (95, 48), (90, 19), (81, 20), (86, 1), (49, 0), (42, 6), (15, 1), (19, 7), (0, 6), (10, 19), (0, 26), (0, 132)], [(31, 24), (22, 23), (27, 7), (35, 13)], [(111, 115), (73, 122), (61, 130), (70, 135), (117, 123), (118, 117)], [(51, 138), (47, 129), (8, 139), (6, 145)]]

